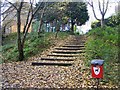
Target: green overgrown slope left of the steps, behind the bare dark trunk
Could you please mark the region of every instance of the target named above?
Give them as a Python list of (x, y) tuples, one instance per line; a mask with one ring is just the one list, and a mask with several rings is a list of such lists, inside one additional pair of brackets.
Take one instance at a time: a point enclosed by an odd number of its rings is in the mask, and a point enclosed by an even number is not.
[[(24, 55), (27, 59), (35, 54), (41, 53), (43, 50), (49, 48), (53, 44), (55, 33), (49, 32), (42, 34), (42, 37), (38, 38), (37, 33), (28, 34), (25, 46)], [(58, 38), (65, 39), (69, 36), (66, 32), (59, 32)], [(18, 61), (17, 50), (17, 34), (13, 33), (7, 36), (2, 47), (2, 56), (6, 61)]]

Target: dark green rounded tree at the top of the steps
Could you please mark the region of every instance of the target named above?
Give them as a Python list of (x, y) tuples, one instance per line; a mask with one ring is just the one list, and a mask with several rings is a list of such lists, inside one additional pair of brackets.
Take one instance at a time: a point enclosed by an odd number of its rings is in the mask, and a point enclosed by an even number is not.
[(87, 5), (84, 2), (69, 2), (66, 7), (66, 15), (71, 20), (71, 30), (74, 31), (74, 25), (85, 24), (89, 19)]

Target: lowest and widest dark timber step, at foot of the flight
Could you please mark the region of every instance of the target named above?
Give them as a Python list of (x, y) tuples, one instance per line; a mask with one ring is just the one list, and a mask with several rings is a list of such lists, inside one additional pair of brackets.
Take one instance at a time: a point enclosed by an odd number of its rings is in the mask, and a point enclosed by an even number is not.
[(41, 66), (41, 65), (47, 65), (47, 66), (71, 66), (73, 63), (58, 63), (58, 62), (32, 62), (33, 66)]

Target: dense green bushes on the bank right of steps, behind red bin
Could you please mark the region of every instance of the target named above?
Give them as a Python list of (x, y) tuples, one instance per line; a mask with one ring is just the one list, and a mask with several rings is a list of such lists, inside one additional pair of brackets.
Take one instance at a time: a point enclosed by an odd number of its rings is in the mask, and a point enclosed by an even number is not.
[(86, 64), (92, 59), (103, 59), (103, 83), (118, 84), (118, 27), (95, 28), (88, 33)]

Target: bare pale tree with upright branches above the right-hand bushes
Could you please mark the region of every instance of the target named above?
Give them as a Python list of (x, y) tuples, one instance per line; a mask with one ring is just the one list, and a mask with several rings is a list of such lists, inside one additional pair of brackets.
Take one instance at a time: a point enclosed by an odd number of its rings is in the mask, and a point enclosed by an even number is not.
[[(101, 2), (102, 1), (102, 2)], [(101, 14), (101, 19), (99, 19), (95, 13), (95, 7), (94, 7), (94, 4), (93, 4), (93, 0), (91, 1), (87, 1), (87, 3), (92, 7), (92, 10), (93, 10), (93, 14), (94, 14), (94, 17), (101, 22), (101, 27), (104, 26), (104, 21), (105, 21), (105, 14), (108, 10), (108, 4), (109, 4), (109, 0), (107, 0), (107, 2), (105, 2), (105, 0), (98, 0), (98, 6), (99, 6), (99, 11), (100, 11), (100, 14)]]

